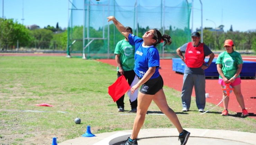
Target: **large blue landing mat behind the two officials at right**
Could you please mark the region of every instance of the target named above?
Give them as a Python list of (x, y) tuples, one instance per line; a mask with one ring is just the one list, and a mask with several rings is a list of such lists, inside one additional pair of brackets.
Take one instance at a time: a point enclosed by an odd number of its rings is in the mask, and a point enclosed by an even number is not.
[[(204, 61), (208, 62), (208, 58), (205, 58)], [(213, 59), (211, 65), (208, 69), (204, 70), (205, 76), (218, 77), (219, 73), (217, 71), (217, 65), (215, 64), (216, 58)], [(185, 63), (180, 58), (172, 59), (172, 70), (180, 73), (185, 71)], [(245, 61), (243, 64), (242, 71), (240, 72), (241, 77), (256, 77), (256, 62)]]

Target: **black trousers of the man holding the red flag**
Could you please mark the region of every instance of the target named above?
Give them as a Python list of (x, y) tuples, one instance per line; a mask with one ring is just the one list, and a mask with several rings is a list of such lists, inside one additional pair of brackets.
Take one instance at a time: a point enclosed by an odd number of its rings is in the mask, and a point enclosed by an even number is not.
[[(120, 72), (117, 72), (117, 77), (120, 77), (120, 76), (121, 76)], [(134, 70), (124, 71), (124, 76), (128, 80), (128, 84), (131, 85), (135, 77), (135, 72)], [(119, 98), (116, 101), (117, 107), (121, 106), (122, 108), (125, 108), (124, 98), (125, 98), (125, 95), (123, 95), (121, 98)], [(137, 105), (138, 105), (137, 99), (133, 102), (131, 102), (130, 100), (130, 105), (131, 105), (131, 108), (137, 108)]]

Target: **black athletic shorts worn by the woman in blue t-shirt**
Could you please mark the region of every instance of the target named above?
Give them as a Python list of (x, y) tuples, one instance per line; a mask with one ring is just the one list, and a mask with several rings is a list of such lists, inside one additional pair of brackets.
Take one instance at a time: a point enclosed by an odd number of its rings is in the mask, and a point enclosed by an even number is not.
[(155, 95), (160, 89), (164, 86), (164, 81), (161, 75), (154, 79), (149, 79), (144, 83), (140, 88), (140, 93), (148, 94), (148, 95)]

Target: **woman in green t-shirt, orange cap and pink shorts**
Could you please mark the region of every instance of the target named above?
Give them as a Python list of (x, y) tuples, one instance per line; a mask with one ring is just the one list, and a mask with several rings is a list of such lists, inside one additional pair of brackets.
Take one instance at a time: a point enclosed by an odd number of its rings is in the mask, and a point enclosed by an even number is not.
[[(234, 51), (234, 43), (231, 39), (225, 41), (224, 47), (226, 51), (222, 52), (216, 61), (219, 72), (219, 84), (223, 88), (226, 84), (230, 83), (230, 86), (234, 88), (236, 99), (242, 108), (243, 116), (248, 116), (249, 114), (245, 109), (244, 97), (241, 93), (241, 79), (239, 75), (242, 70), (243, 59), (238, 52)], [(223, 92), (224, 110), (221, 113), (222, 116), (228, 115), (229, 96), (226, 96), (227, 94)]]

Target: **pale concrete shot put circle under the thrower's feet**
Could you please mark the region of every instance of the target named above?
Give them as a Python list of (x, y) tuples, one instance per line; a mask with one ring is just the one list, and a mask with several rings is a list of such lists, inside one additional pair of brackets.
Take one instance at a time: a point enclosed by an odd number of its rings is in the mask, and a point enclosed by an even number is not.
[[(255, 145), (256, 133), (184, 128), (190, 137), (186, 145)], [(120, 145), (131, 136), (132, 130), (95, 134), (95, 137), (77, 137), (60, 143), (60, 145)], [(179, 145), (176, 128), (141, 129), (138, 135), (139, 145)]]

